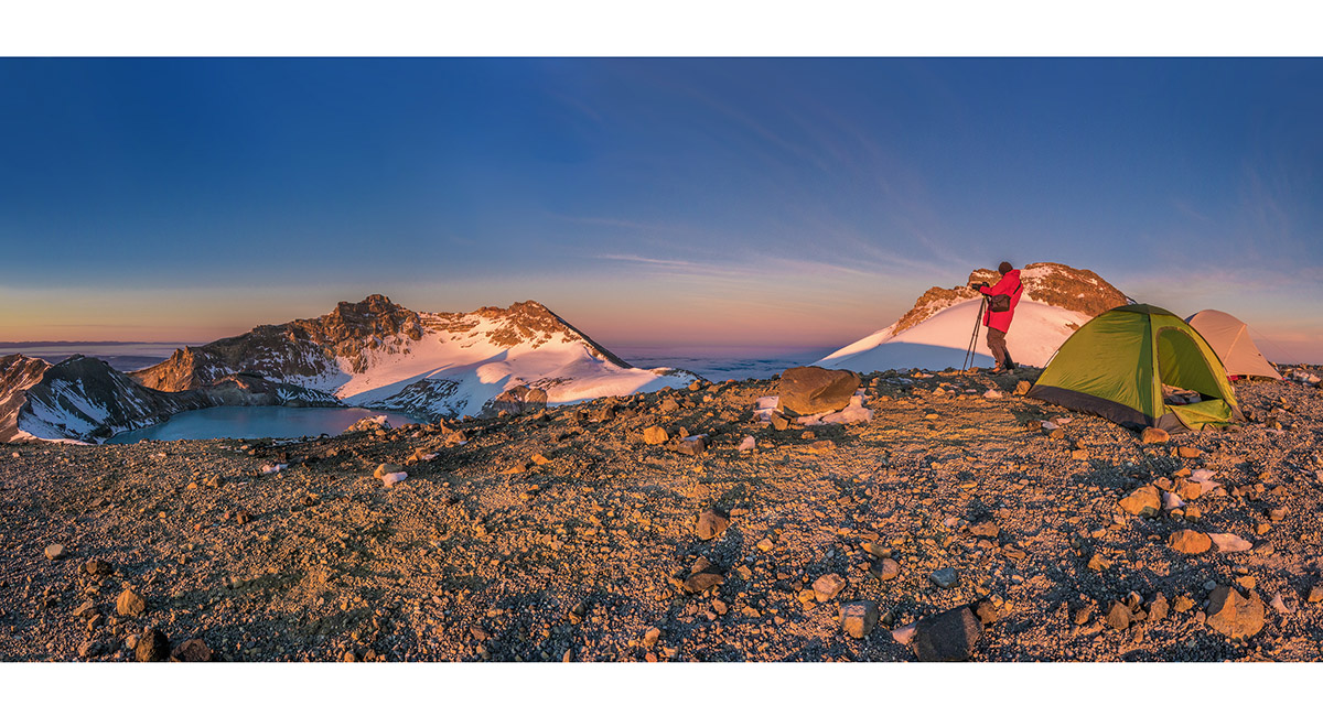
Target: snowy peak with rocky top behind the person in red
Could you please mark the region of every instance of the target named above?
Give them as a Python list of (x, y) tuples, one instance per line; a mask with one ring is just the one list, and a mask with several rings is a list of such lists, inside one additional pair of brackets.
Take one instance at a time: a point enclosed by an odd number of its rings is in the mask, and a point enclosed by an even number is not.
[[(894, 324), (867, 336), (815, 365), (871, 373), (892, 369), (941, 370), (959, 367), (974, 334), (982, 297), (968, 283), (996, 283), (990, 268), (970, 273), (966, 285), (933, 287)], [(1043, 366), (1081, 325), (1094, 316), (1125, 305), (1129, 299), (1091, 271), (1057, 263), (1035, 263), (1020, 271), (1024, 296), (1007, 333), (1011, 357)], [(975, 338), (975, 365), (988, 367), (986, 330)]]

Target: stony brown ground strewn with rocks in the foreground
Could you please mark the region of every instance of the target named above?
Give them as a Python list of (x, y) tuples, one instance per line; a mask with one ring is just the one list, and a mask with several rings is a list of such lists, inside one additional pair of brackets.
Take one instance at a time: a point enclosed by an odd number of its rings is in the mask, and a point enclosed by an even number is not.
[(1144, 444), (1035, 376), (865, 375), (848, 425), (777, 429), (745, 380), (4, 445), (0, 658), (1319, 659), (1319, 388), (1240, 383), (1253, 421)]

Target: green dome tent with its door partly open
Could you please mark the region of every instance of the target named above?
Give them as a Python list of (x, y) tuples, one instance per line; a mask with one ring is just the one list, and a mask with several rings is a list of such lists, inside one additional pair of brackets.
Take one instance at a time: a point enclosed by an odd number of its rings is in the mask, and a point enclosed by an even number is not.
[[(1170, 404), (1163, 386), (1200, 400)], [(1114, 308), (1057, 350), (1028, 398), (1101, 415), (1131, 429), (1201, 429), (1244, 420), (1217, 353), (1176, 314), (1146, 304)]]

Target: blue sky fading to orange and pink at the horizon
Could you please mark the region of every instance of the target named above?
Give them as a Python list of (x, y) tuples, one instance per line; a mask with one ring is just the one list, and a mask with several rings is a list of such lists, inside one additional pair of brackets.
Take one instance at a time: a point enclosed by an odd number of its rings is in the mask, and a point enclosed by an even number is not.
[(1323, 362), (1319, 59), (0, 59), (0, 341), (384, 293), (835, 349), (1058, 262)]

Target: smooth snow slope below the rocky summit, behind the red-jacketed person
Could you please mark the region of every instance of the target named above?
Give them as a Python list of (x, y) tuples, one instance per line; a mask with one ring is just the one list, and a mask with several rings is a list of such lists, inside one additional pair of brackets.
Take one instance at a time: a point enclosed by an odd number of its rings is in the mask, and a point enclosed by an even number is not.
[[(897, 324), (892, 324), (814, 365), (856, 373), (960, 367), (980, 303), (980, 299), (954, 301), (900, 333), (896, 333)], [(1005, 336), (1007, 350), (1017, 363), (1045, 366), (1061, 343), (1089, 320), (1088, 314), (1077, 310), (1023, 299)], [(979, 325), (978, 330), (974, 365), (991, 367), (987, 329)]]

